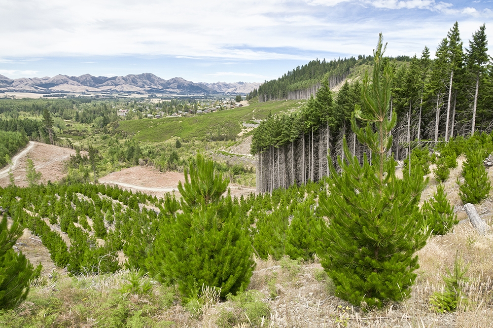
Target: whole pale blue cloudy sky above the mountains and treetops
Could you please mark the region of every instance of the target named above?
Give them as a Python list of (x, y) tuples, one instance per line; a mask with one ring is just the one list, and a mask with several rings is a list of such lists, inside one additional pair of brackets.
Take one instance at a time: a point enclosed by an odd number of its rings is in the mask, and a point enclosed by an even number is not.
[[(434, 54), (458, 21), (464, 47), (493, 0), (0, 0), (0, 74), (153, 73), (263, 82), (316, 58)], [(490, 48), (493, 50), (493, 42)], [(493, 51), (490, 50), (490, 55)]]

